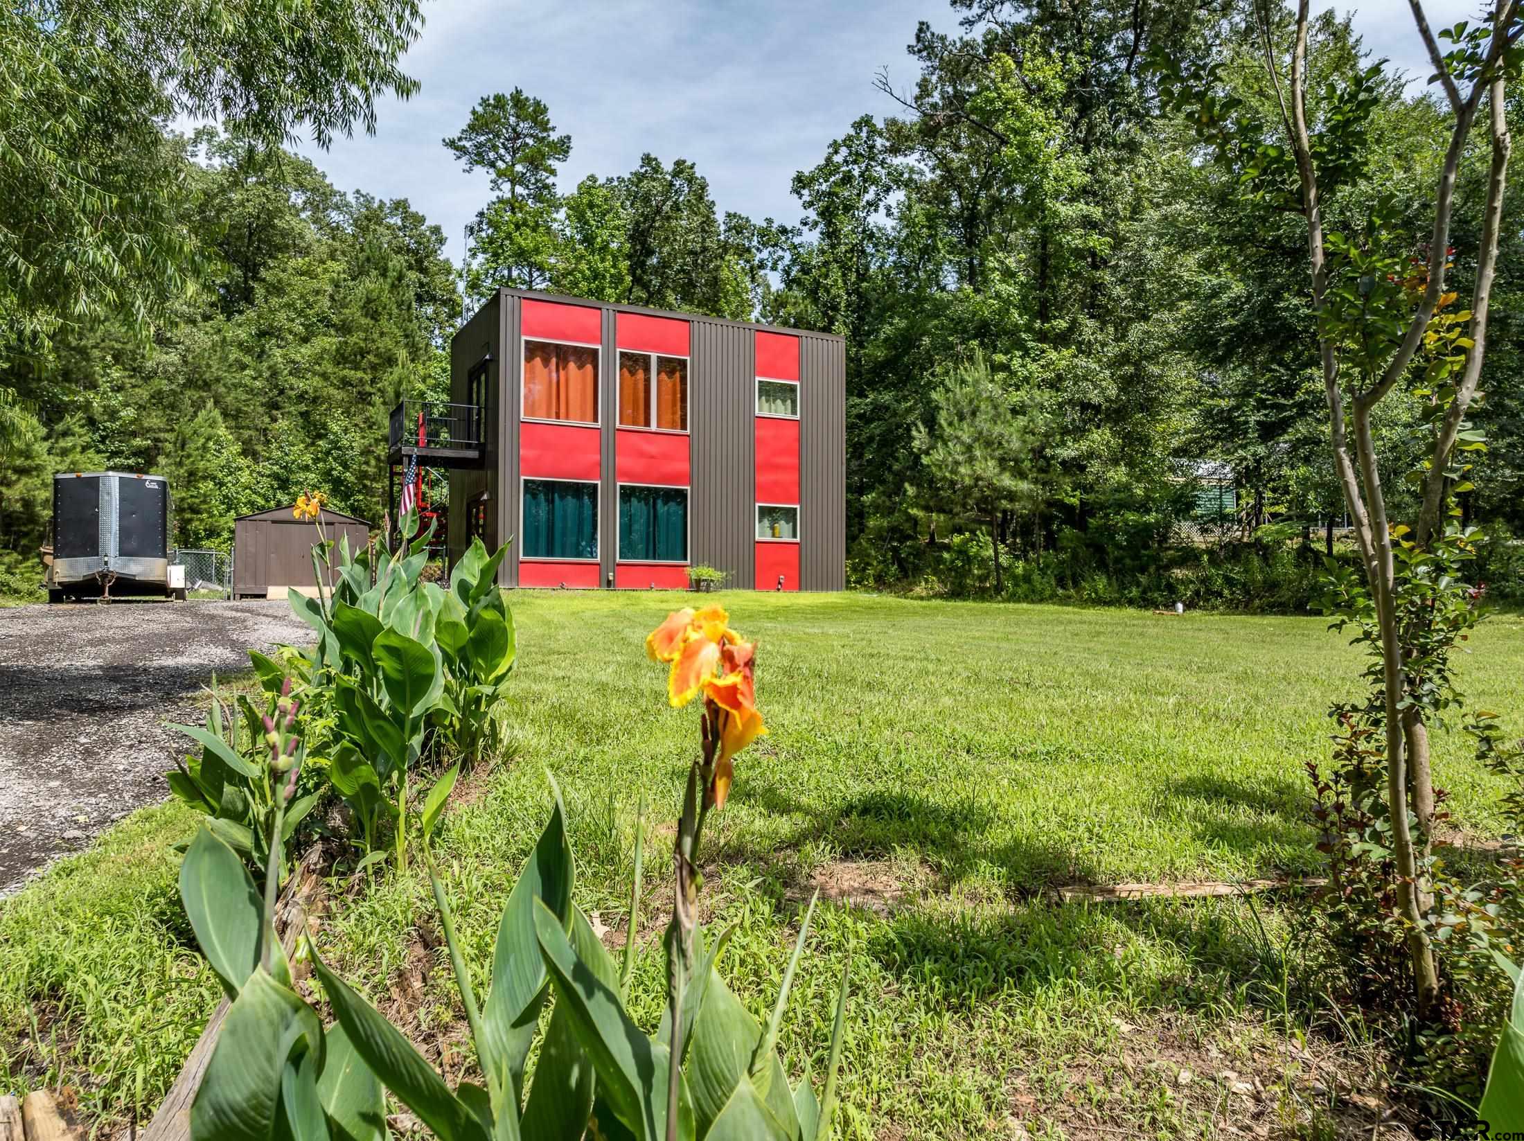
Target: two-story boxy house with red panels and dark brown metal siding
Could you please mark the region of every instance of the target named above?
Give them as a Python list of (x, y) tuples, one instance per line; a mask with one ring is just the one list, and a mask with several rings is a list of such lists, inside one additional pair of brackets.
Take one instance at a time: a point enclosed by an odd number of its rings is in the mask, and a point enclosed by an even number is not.
[(512, 538), (507, 586), (841, 590), (844, 396), (840, 337), (500, 289), (392, 462), (451, 469), (450, 556)]

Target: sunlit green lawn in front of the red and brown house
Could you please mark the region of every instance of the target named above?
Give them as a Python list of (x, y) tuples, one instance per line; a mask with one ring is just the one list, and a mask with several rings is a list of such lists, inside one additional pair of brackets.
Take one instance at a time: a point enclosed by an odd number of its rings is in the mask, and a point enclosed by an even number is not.
[[(642, 643), (690, 597), (512, 596), (514, 756), (469, 781), (442, 841), (482, 969), (547, 812), (546, 769), (567, 797), (578, 900), (619, 926), (637, 806), (652, 827), (675, 815), (696, 745), (696, 714), (666, 707)], [(1361, 666), (1323, 622), (719, 599), (759, 643), (771, 727), (707, 839), (707, 909), (738, 923), (727, 976), (764, 1012), (817, 882), (892, 899), (818, 914), (785, 1027), (796, 1075), (806, 1059), (818, 1072), (850, 961), (844, 1135), (1010, 1138), (1020, 1121), (1032, 1136), (1210, 1136), (1224, 1121), (1334, 1121), (1338, 1082), (1373, 1077), (1349, 1034), (1330, 1045), (1326, 1015), (1286, 999), (1273, 909), (1042, 891), (1315, 868), (1301, 766), (1327, 754), (1324, 710), (1355, 695)], [(1518, 617), (1489, 622), (1460, 675), (1524, 731), (1521, 634)], [(1468, 753), (1440, 736), (1439, 781), (1457, 823), (1490, 835), (1497, 789)], [(166, 852), (190, 827), (174, 807), (140, 812), (0, 905), (12, 1086), (73, 1083), (114, 1124), (152, 1111), (216, 996)], [(636, 1001), (651, 1027), (664, 873), (648, 861)], [(393, 877), (341, 894), (320, 941), (457, 1072), (465, 1034), (433, 926), (424, 881)], [(1233, 1094), (1222, 1069), (1265, 1095)]]

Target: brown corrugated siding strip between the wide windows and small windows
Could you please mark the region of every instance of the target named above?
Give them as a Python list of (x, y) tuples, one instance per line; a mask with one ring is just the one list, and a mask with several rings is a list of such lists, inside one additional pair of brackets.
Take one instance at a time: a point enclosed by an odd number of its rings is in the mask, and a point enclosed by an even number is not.
[(693, 433), (690, 532), (695, 564), (756, 585), (756, 337), (751, 328), (693, 318), (689, 401)]

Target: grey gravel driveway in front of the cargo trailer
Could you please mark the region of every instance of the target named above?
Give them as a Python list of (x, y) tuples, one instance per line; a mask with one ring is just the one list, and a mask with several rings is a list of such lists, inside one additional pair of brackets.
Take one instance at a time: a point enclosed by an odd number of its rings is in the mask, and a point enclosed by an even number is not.
[(308, 641), (285, 602), (113, 602), (0, 609), (0, 896), (163, 800), (213, 670)]

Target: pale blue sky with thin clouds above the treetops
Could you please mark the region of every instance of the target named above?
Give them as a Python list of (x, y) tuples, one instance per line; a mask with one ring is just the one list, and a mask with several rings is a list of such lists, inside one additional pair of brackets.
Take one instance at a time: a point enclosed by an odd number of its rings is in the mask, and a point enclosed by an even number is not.
[[(1436, 27), (1469, 15), (1457, 0), (1426, 8)], [(550, 105), (572, 136), (564, 189), (625, 174), (651, 151), (693, 160), (721, 210), (796, 221), (794, 172), (820, 161), (856, 116), (895, 110), (873, 90), (875, 73), (888, 67), (896, 87), (914, 81), (905, 46), (916, 21), (956, 27), (942, 0), (430, 0), (425, 17), (404, 59), (422, 90), (384, 101), (375, 136), (300, 149), (343, 190), (408, 198), (443, 225), (456, 262), (488, 186), (440, 140), (483, 94), (517, 85)], [(1405, 0), (1372, 0), (1355, 23), (1379, 55), (1419, 70)]]

